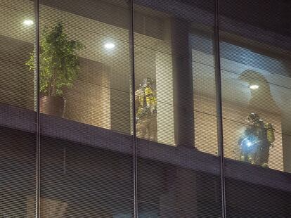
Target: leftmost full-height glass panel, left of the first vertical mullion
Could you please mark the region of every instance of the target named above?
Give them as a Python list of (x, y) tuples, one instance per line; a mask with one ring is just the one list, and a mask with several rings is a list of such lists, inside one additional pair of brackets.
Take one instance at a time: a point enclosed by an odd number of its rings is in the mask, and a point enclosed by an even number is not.
[(35, 86), (25, 65), (34, 56), (33, 1), (0, 1), (0, 18), (0, 217), (34, 217)]

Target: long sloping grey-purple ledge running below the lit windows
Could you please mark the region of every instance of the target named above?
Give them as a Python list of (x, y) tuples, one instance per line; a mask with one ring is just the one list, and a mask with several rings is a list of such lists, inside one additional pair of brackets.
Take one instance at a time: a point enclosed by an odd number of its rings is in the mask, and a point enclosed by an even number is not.
[[(0, 117), (1, 127), (36, 132), (34, 111), (0, 105)], [(41, 135), (132, 155), (132, 136), (72, 120), (41, 115)], [(137, 143), (138, 158), (164, 162), (218, 177), (220, 175), (220, 158), (214, 155), (202, 153), (194, 148), (167, 146), (143, 139), (138, 139)], [(225, 172), (226, 179), (236, 179), (291, 193), (291, 174), (285, 172), (228, 159), (225, 160)]]

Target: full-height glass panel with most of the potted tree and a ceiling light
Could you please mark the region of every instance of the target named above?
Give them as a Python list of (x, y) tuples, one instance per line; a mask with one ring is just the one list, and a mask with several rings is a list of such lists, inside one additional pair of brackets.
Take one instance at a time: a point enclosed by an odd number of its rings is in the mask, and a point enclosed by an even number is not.
[(129, 5), (40, 3), (41, 212), (131, 217)]

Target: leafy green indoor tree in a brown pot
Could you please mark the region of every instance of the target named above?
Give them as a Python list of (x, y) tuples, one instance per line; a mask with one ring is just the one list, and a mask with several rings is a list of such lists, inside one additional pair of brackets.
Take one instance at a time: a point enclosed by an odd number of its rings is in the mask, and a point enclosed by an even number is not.
[[(79, 73), (77, 51), (84, 48), (78, 41), (70, 40), (62, 23), (51, 30), (44, 27), (40, 39), (39, 91), (41, 113), (63, 117), (66, 88), (70, 88)], [(34, 53), (26, 65), (34, 71)]]

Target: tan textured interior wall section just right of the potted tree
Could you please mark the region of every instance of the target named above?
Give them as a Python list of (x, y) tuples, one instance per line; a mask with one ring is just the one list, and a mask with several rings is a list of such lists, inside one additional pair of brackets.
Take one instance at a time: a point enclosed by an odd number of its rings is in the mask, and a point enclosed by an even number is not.
[(110, 129), (109, 67), (82, 58), (79, 77), (65, 91), (65, 118)]

